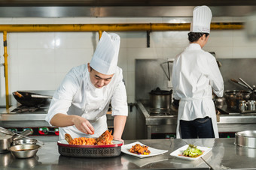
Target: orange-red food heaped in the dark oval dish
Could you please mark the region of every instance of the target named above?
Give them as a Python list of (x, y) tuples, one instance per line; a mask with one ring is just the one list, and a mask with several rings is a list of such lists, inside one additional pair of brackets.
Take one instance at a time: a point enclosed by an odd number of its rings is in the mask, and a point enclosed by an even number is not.
[(111, 142), (113, 140), (113, 136), (111, 135), (112, 130), (108, 131), (106, 130), (105, 133), (102, 133), (99, 138), (75, 138), (72, 139), (72, 136), (69, 135), (69, 133), (65, 134), (65, 139), (69, 143), (69, 145), (111, 145)]

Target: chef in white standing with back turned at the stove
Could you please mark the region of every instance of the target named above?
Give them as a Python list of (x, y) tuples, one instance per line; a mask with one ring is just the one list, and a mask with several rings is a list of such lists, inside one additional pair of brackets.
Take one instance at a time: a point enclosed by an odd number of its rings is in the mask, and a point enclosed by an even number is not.
[(209, 39), (211, 20), (209, 7), (194, 8), (190, 45), (173, 63), (173, 97), (180, 100), (177, 138), (218, 138), (212, 91), (222, 97), (224, 82), (215, 57), (202, 49)]

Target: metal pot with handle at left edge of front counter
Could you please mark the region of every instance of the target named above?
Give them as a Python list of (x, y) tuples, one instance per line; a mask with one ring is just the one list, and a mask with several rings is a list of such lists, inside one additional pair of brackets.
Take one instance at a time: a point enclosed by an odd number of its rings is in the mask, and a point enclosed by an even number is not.
[(31, 130), (23, 131), (22, 133), (20, 133), (20, 135), (22, 136), (17, 136), (17, 135), (12, 136), (12, 135), (8, 135), (0, 132), (0, 154), (8, 152), (9, 148), (12, 145), (12, 142), (23, 138), (23, 136), (28, 136), (29, 134), (31, 134)]

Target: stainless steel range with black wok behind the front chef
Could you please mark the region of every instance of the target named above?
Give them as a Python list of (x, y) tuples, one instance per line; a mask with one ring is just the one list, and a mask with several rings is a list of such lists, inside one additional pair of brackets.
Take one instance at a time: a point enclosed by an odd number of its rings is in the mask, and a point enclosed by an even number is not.
[[(16, 91), (17, 92), (17, 91)], [(59, 128), (50, 127), (44, 118), (47, 115), (51, 97), (54, 91), (18, 91), (20, 94), (38, 94), (37, 100), (26, 100), (29, 104), (22, 105), (17, 103), (17, 105), (11, 106), (9, 109), (0, 113), (0, 127), (5, 127), (14, 133), (22, 133), (25, 130), (31, 130), (32, 138), (41, 140), (43, 142), (56, 142), (59, 139)], [(15, 92), (14, 92), (15, 93)], [(14, 94), (15, 97), (15, 94)], [(45, 97), (45, 102), (41, 102), (41, 97)], [(18, 101), (23, 103), (24, 101)], [(25, 101), (25, 103), (26, 103)], [(39, 102), (39, 104), (38, 104)], [(31, 104), (32, 103), (32, 104)], [(37, 105), (33, 105), (36, 103)], [(108, 119), (108, 129), (113, 129), (113, 117), (111, 114), (107, 114)]]

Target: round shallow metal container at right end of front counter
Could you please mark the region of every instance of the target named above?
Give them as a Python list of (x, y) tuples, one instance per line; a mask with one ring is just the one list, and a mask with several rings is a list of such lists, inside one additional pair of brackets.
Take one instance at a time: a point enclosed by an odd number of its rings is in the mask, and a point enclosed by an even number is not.
[(256, 148), (256, 130), (245, 130), (235, 134), (235, 145)]

